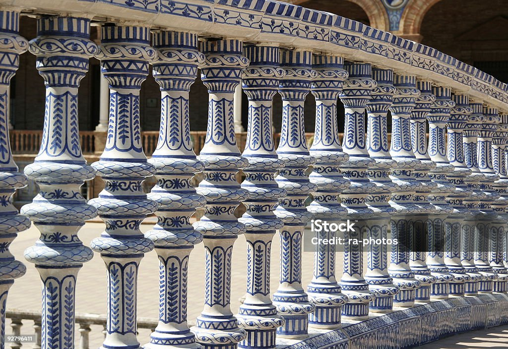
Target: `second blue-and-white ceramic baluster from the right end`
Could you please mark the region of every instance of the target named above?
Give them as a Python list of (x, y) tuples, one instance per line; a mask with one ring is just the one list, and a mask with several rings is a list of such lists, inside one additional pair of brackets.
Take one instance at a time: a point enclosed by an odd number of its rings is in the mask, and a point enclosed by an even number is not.
[(497, 278), (497, 274), (492, 270), (489, 262), (490, 241), (492, 237), (492, 221), (496, 218), (497, 213), (492, 209), (492, 204), (499, 198), (499, 194), (493, 188), (495, 181), (499, 180), (499, 176), (494, 172), (492, 165), (492, 136), (497, 129), (499, 117), (497, 109), (483, 108), (484, 120), (482, 128), (478, 135), (478, 168), (485, 175), (480, 186), (486, 197), (480, 202), (481, 216), (477, 225), (477, 245), (474, 249), (474, 265), (485, 278), (480, 282), (478, 291), (490, 293), (493, 290), (493, 281)]

